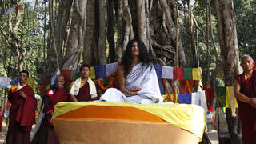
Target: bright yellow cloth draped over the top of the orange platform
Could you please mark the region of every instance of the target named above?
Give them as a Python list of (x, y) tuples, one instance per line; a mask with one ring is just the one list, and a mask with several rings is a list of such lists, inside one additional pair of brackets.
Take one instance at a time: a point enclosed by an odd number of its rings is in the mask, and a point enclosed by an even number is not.
[(190, 131), (202, 139), (206, 125), (205, 111), (201, 106), (186, 104), (132, 104), (126, 102), (59, 102), (54, 106), (53, 118), (83, 106), (131, 106), (162, 118), (174, 126)]

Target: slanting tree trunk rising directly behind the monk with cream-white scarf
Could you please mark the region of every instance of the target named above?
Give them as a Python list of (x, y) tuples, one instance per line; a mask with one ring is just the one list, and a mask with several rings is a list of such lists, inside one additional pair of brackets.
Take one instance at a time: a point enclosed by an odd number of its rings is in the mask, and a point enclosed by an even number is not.
[(87, 0), (75, 0), (70, 35), (68, 38), (66, 55), (62, 70), (72, 70), (78, 67), (78, 59), (84, 47), (86, 32), (86, 5)]

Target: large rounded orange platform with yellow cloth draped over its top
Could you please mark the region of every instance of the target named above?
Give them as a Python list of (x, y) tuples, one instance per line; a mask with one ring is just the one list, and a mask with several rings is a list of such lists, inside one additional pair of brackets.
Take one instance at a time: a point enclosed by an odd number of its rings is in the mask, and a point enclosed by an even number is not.
[(52, 123), (62, 144), (198, 144), (204, 110), (185, 104), (61, 102)]

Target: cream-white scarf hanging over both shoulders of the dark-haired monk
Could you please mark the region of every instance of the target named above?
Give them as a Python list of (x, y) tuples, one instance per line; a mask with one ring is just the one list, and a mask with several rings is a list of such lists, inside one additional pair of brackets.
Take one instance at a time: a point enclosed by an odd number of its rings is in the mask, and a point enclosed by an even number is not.
[[(87, 79), (87, 82), (89, 83), (90, 97), (96, 98), (97, 90), (96, 90), (95, 83), (90, 78)], [(81, 77), (74, 81), (74, 84), (70, 89), (70, 94), (77, 96), (79, 93), (80, 85), (81, 85)]]

